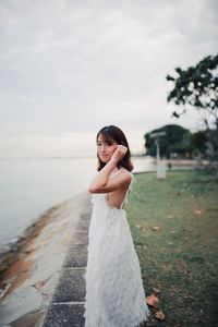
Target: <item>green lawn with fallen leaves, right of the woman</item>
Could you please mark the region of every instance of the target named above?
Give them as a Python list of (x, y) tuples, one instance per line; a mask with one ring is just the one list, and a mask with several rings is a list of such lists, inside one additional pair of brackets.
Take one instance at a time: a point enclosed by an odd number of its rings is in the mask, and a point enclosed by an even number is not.
[[(166, 319), (146, 326), (218, 326), (218, 183), (204, 172), (135, 175), (126, 206), (146, 295)], [(153, 230), (160, 227), (160, 230)], [(217, 323), (217, 324), (216, 324)]]

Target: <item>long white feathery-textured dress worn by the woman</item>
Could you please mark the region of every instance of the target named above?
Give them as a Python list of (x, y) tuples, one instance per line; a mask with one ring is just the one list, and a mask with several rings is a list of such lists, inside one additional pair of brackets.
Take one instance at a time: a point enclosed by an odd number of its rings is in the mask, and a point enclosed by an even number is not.
[(107, 203), (107, 193), (93, 194), (92, 197), (85, 271), (85, 327), (136, 327), (150, 315), (138, 257), (123, 209), (132, 182), (133, 175), (120, 208)]

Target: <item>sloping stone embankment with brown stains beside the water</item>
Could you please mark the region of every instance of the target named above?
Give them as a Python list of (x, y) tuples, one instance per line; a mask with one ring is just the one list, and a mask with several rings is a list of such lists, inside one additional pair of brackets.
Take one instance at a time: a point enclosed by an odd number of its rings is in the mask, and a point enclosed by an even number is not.
[(76, 223), (88, 205), (89, 194), (84, 192), (53, 206), (5, 254), (0, 326), (41, 326)]

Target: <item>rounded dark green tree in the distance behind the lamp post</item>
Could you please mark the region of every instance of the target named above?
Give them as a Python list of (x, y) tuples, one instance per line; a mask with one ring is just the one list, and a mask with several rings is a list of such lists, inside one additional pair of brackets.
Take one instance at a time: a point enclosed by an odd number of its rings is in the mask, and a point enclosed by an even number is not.
[(184, 157), (186, 154), (191, 155), (193, 148), (191, 146), (192, 133), (175, 124), (168, 124), (158, 130), (154, 130), (144, 135), (146, 154), (155, 157), (156, 156), (156, 144), (155, 140), (150, 136), (153, 133), (166, 132), (166, 136), (160, 137), (160, 156), (170, 158), (170, 156), (177, 153), (179, 156)]

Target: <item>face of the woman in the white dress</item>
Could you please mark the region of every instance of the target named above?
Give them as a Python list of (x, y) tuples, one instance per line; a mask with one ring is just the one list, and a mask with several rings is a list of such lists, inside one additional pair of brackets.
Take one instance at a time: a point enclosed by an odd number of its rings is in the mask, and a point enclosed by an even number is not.
[(106, 142), (101, 135), (97, 140), (97, 154), (102, 162), (108, 162), (117, 148), (118, 143), (114, 140)]

